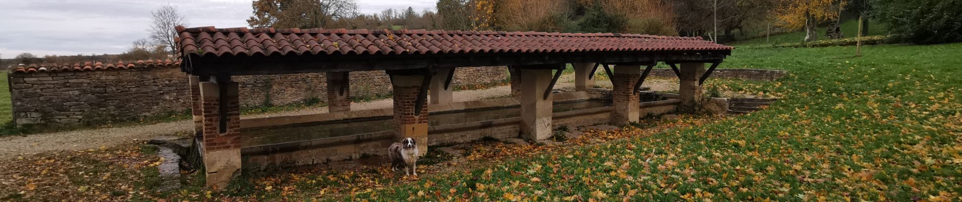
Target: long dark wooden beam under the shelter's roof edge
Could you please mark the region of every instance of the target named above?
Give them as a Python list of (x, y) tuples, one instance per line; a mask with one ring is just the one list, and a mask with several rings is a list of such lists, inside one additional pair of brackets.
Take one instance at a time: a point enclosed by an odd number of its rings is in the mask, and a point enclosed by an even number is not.
[(731, 55), (730, 50), (360, 56), (187, 56), (182, 62), (182, 69), (190, 75), (197, 76), (242, 76), (575, 62), (646, 64), (652, 61), (671, 61), (681, 63), (720, 61), (729, 55)]

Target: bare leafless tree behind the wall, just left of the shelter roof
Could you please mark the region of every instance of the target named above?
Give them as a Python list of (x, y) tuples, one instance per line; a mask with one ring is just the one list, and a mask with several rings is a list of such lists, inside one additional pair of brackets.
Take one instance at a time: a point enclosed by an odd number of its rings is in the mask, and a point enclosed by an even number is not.
[(150, 18), (154, 23), (147, 32), (150, 32), (150, 40), (157, 45), (169, 48), (171, 55), (177, 53), (177, 46), (174, 44), (174, 37), (177, 37), (178, 25), (187, 26), (187, 19), (177, 11), (176, 7), (164, 6), (151, 12)]

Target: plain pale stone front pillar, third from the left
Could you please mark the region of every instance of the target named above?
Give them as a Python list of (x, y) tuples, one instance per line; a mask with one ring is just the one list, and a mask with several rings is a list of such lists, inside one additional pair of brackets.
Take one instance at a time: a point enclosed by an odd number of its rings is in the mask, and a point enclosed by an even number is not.
[(551, 97), (544, 91), (551, 81), (550, 69), (519, 69), (521, 81), (521, 137), (537, 141), (551, 137)]

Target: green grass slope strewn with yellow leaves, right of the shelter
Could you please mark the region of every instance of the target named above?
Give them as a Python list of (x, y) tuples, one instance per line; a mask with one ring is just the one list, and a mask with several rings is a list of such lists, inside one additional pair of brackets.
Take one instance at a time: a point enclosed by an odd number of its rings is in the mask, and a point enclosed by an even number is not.
[(357, 198), (962, 200), (962, 57), (955, 56), (962, 44), (863, 51), (851, 57), (848, 47), (736, 50), (726, 65), (791, 71), (776, 82), (742, 86), (782, 100), (746, 116)]

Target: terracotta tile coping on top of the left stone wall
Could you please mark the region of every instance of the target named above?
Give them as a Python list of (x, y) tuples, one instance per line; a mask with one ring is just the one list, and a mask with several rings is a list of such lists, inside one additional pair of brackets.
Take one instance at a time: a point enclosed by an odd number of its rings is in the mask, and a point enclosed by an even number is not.
[(16, 68), (13, 68), (14, 73), (36, 73), (36, 72), (80, 72), (80, 71), (97, 71), (97, 70), (114, 70), (114, 69), (134, 69), (134, 68), (177, 68), (180, 67), (180, 60), (137, 60), (137, 61), (119, 61), (119, 62), (94, 62), (87, 61), (83, 64), (74, 63), (70, 64), (30, 64), (24, 65), (20, 64)]

